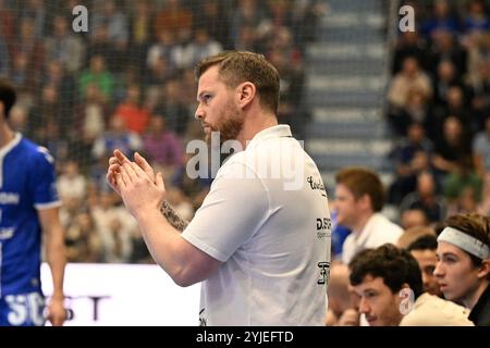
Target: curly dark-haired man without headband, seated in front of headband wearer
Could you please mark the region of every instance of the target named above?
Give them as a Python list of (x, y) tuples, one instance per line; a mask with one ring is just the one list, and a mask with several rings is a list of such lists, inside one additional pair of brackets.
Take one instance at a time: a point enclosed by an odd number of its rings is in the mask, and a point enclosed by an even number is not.
[(408, 251), (385, 244), (360, 251), (350, 263), (359, 312), (371, 326), (471, 326), (468, 311), (422, 293), (420, 269)]

